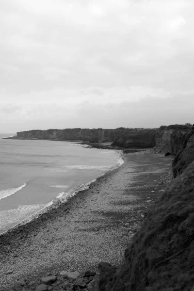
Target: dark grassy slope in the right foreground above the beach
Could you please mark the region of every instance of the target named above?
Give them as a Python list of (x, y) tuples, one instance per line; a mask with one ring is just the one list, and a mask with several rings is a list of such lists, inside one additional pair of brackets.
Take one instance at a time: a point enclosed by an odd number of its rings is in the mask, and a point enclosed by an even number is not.
[(194, 162), (147, 215), (123, 265), (100, 291), (191, 291), (194, 284)]

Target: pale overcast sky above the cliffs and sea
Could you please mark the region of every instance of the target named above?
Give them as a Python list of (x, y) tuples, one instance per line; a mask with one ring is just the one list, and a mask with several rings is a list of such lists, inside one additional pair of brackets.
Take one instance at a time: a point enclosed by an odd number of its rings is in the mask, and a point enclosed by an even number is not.
[(0, 0), (0, 132), (194, 123), (193, 0)]

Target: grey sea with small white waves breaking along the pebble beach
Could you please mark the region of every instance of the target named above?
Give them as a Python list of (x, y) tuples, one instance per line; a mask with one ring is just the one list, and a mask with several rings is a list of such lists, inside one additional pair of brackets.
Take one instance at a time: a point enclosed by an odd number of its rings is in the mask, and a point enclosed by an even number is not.
[(116, 150), (71, 142), (4, 140), (0, 134), (0, 233), (65, 203), (106, 171), (122, 164)]

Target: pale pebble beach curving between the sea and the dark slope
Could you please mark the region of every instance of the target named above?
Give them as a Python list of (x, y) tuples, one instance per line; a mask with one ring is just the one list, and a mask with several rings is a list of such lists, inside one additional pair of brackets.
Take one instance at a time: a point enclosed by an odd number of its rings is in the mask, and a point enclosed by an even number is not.
[(48, 272), (97, 271), (102, 260), (119, 265), (143, 213), (165, 189), (171, 163), (151, 150), (126, 154), (121, 167), (88, 190), (1, 235), (0, 290)]

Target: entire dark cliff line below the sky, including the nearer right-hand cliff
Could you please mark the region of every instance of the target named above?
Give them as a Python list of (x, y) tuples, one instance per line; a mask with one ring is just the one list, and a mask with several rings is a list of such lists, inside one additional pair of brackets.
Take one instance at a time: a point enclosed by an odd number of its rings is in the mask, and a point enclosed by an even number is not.
[(17, 132), (17, 138), (110, 142), (114, 147), (155, 147), (158, 152), (175, 155), (185, 145), (190, 130), (191, 127), (185, 125), (162, 126), (159, 129), (37, 129)]

